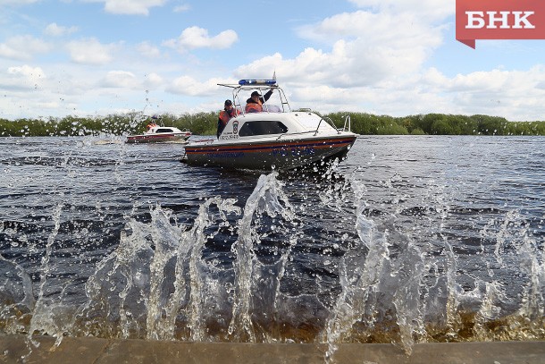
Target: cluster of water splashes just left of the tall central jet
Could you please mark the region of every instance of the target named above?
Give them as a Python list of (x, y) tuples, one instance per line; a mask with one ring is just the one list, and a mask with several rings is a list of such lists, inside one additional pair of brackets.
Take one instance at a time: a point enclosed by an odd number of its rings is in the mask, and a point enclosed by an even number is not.
[[(88, 330), (119, 326), (120, 331), (110, 334), (173, 340), (181, 320), (187, 323), (192, 340), (204, 340), (203, 302), (206, 291), (214, 286), (205, 287), (204, 283), (204, 231), (211, 224), (211, 205), (219, 208), (226, 221), (226, 214), (239, 213), (234, 202), (208, 199), (189, 230), (172, 224), (172, 212), (161, 207), (151, 211), (150, 224), (130, 220), (130, 235), (122, 235), (118, 249), (101, 262), (88, 280), (89, 302), (81, 314), (88, 321)], [(92, 317), (110, 317), (119, 323), (97, 322)]]

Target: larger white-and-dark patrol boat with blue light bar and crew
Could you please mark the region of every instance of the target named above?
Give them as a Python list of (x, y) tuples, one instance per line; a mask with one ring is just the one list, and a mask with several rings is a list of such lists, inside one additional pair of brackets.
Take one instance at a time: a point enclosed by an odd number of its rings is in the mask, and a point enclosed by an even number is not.
[[(342, 160), (356, 141), (357, 134), (350, 131), (349, 116), (344, 127), (337, 128), (331, 119), (310, 109), (291, 111), (276, 80), (239, 80), (238, 85), (219, 85), (232, 89), (236, 116), (225, 125), (217, 140), (195, 140), (184, 146), (186, 153), (182, 162), (265, 171), (290, 170), (324, 165), (337, 158)], [(257, 90), (265, 101), (259, 107), (260, 112), (255, 112), (253, 107), (243, 107), (246, 102), (240, 101), (240, 97), (246, 100), (244, 96), (249, 96), (250, 90)], [(270, 90), (276, 93), (280, 106), (267, 104), (271, 94), (264, 95), (264, 91)]]

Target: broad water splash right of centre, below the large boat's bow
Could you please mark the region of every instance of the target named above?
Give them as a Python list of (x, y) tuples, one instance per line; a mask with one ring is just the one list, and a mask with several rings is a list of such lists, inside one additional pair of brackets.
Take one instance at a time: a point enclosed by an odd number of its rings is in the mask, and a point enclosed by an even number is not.
[[(366, 341), (379, 327), (384, 334), (393, 331), (393, 342), (397, 332), (398, 343), (410, 353), (415, 332), (424, 332), (422, 253), (398, 232), (394, 216), (381, 224), (365, 216), (365, 185), (354, 179), (352, 188), (360, 243), (341, 259), (342, 291), (323, 333), (329, 343), (326, 358), (332, 360), (336, 343)], [(394, 323), (397, 327), (391, 326)]]

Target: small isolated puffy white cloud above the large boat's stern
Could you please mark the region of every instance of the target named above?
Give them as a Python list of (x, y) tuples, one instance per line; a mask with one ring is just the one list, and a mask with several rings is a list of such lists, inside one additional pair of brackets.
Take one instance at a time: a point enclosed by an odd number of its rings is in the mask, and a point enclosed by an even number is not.
[(190, 27), (183, 30), (177, 39), (164, 41), (164, 46), (178, 49), (184, 53), (196, 48), (225, 49), (231, 47), (239, 36), (234, 30), (224, 30), (214, 37), (208, 35), (208, 30), (199, 27)]

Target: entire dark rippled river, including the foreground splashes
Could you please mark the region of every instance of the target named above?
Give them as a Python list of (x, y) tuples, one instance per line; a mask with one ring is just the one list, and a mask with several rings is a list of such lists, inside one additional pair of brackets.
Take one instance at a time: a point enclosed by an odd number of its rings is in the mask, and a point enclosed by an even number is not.
[(545, 339), (545, 139), (362, 136), (328, 171), (0, 139), (0, 333)]

